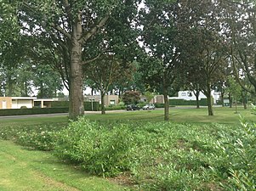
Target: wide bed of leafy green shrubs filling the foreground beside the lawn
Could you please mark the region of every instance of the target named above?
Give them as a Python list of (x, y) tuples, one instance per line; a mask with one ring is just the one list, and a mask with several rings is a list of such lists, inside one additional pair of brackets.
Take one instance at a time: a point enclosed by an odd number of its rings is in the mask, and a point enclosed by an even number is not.
[[(255, 108), (254, 108), (254, 112)], [(68, 126), (5, 126), (0, 137), (144, 190), (255, 190), (256, 124), (194, 125), (86, 118)]]

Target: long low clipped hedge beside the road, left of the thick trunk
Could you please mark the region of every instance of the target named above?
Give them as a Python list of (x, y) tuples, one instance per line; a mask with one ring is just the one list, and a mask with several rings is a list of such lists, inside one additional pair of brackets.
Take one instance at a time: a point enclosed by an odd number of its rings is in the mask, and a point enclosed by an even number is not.
[(4, 109), (0, 116), (68, 113), (68, 108)]

